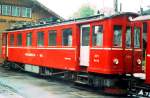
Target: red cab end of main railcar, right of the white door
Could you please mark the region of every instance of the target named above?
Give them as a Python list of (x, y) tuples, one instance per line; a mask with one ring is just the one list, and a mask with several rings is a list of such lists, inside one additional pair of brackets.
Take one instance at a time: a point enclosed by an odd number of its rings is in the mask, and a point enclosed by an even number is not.
[[(142, 71), (141, 26), (121, 14), (90, 24), (88, 72), (111, 75)], [(122, 21), (120, 21), (122, 20)]]

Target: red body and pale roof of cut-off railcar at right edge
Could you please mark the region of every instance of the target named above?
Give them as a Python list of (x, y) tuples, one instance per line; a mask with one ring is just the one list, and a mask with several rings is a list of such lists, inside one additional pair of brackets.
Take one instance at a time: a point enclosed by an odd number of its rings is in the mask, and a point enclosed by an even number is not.
[(149, 15), (144, 15), (144, 16), (139, 16), (136, 17), (133, 21), (133, 23), (140, 23), (143, 26), (143, 50), (145, 52), (145, 62), (146, 62), (146, 83), (150, 84), (150, 16)]

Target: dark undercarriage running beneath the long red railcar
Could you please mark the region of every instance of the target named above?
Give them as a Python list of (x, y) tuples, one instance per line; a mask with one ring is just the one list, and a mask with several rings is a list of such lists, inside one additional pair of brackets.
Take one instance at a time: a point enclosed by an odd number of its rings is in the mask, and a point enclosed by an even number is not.
[(27, 71), (42, 76), (59, 76), (73, 82), (75, 85), (87, 85), (105, 94), (127, 96), (150, 96), (150, 86), (138, 78), (125, 75), (103, 75), (88, 72), (73, 72), (67, 70), (50, 69), (46, 67), (25, 65), (16, 62), (5, 61), (3, 67), (18, 71)]

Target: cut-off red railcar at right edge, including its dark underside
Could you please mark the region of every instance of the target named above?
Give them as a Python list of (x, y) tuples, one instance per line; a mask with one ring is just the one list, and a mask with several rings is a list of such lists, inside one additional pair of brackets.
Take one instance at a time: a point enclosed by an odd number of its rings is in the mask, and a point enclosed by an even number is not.
[[(132, 20), (133, 25), (142, 27), (142, 50), (145, 73), (136, 74), (131, 79), (130, 93), (136, 96), (150, 97), (150, 15), (143, 15)], [(137, 61), (139, 62), (139, 61)], [(146, 77), (145, 77), (146, 76)]]

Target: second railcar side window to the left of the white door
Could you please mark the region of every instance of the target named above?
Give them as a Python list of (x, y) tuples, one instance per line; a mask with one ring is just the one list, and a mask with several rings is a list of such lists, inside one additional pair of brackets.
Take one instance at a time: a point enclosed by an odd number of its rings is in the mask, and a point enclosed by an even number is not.
[(55, 30), (52, 30), (49, 32), (48, 45), (56, 46), (56, 31)]

